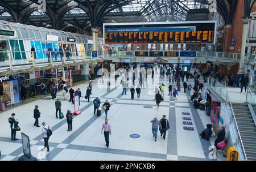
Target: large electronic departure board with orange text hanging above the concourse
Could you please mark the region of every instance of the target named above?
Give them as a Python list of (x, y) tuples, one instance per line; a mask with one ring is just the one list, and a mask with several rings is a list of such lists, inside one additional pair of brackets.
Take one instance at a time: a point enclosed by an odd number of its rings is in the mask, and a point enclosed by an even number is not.
[(216, 21), (104, 23), (104, 44), (213, 44)]

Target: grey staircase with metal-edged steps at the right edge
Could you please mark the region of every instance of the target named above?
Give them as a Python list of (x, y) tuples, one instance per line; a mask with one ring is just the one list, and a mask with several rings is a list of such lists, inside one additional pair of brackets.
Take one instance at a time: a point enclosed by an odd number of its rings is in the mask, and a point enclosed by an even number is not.
[[(232, 103), (247, 160), (256, 160), (256, 126), (247, 104)], [(256, 112), (256, 105), (253, 106)]]

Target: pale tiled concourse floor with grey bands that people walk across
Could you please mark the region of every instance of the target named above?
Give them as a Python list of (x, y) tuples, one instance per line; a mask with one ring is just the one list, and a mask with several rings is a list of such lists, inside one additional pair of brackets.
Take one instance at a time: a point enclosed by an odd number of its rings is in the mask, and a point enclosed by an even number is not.
[[(7, 119), (11, 113), (16, 113), (19, 126), (22, 132), (30, 137), (31, 153), (39, 160), (210, 160), (208, 157), (210, 141), (200, 139), (199, 132), (210, 122), (204, 111), (191, 108), (188, 97), (179, 92), (176, 101), (168, 95), (168, 81), (160, 79), (160, 83), (166, 84), (164, 101), (156, 109), (154, 101), (155, 85), (148, 81), (147, 88), (142, 89), (141, 98), (130, 99), (130, 91), (122, 95), (122, 88), (111, 86), (111, 91), (106, 92), (102, 84), (94, 82), (92, 98), (88, 103), (84, 99), (87, 83), (73, 87), (80, 88), (82, 92), (80, 110), (82, 113), (73, 119), (73, 131), (67, 131), (66, 119), (55, 118), (55, 104), (50, 97), (41, 98), (5, 111), (0, 114), (0, 150), (1, 160), (18, 160), (22, 155), (22, 143), (20, 132), (17, 132), (18, 141), (10, 140), (10, 124)], [(192, 83), (192, 79), (188, 83)], [(109, 123), (112, 124), (112, 135), (110, 136), (109, 148), (105, 147), (104, 136), (101, 135), (101, 126), (104, 123), (105, 114), (101, 117), (93, 115), (92, 101), (94, 97), (100, 97), (103, 103), (106, 99), (110, 101), (108, 114)], [(57, 97), (62, 102), (62, 111), (73, 110), (74, 106), (63, 100), (61, 93)], [(171, 101), (170, 101), (171, 100)], [(42, 128), (34, 127), (33, 110), (39, 105), (42, 115), (39, 122), (48, 123), (53, 130), (49, 139), (50, 152), (40, 152), (43, 145)], [(151, 105), (152, 108), (144, 108), (144, 105)], [(182, 112), (190, 113), (194, 131), (184, 130)], [(158, 140), (155, 142), (151, 134), (151, 119), (166, 114), (170, 121), (171, 128), (167, 132), (167, 139), (163, 140), (158, 133)], [(131, 134), (139, 134), (138, 139), (130, 137)]]

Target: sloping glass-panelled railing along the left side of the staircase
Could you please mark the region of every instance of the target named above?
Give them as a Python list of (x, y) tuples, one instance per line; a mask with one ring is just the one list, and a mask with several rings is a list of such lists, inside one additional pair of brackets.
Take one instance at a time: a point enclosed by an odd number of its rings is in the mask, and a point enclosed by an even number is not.
[(207, 86), (210, 87), (211, 89), (213, 89), (213, 91), (217, 94), (217, 96), (225, 101), (225, 108), (226, 108), (226, 111), (228, 112), (227, 115), (229, 116), (229, 119), (230, 119), (229, 124), (233, 124), (235, 132), (236, 132), (235, 145), (237, 145), (237, 147), (241, 148), (242, 153), (243, 153), (242, 157), (244, 160), (247, 161), (245, 148), (243, 147), (242, 138), (240, 135), (240, 131), (238, 129), (238, 125), (237, 125), (236, 117), (234, 115), (234, 110), (232, 107), (231, 99), (229, 97), (228, 89), (226, 88), (226, 86), (224, 84), (222, 84), (218, 80), (212, 78), (212, 76), (210, 76)]

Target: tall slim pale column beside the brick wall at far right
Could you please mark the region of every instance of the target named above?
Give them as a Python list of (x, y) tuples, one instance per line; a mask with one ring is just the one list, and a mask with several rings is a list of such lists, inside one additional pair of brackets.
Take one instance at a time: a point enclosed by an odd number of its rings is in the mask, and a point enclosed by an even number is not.
[(243, 19), (243, 35), (242, 35), (242, 45), (241, 45), (241, 59), (239, 63), (239, 70), (238, 70), (238, 75), (243, 74), (243, 65), (245, 61), (245, 45), (246, 45), (246, 37), (247, 37), (247, 31), (248, 31), (248, 23), (249, 23), (249, 18)]

